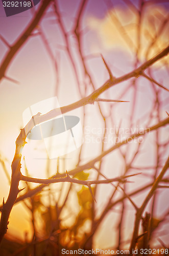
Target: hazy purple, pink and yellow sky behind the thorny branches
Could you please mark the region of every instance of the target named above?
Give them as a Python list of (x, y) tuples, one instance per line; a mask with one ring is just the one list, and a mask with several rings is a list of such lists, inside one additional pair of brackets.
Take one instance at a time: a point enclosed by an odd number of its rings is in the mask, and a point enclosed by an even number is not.
[[(74, 20), (76, 17), (77, 10), (79, 8), (80, 1), (68, 1), (63, 0), (59, 2), (59, 8), (61, 10), (63, 24), (67, 32), (71, 32), (74, 26)], [(107, 60), (108, 65), (113, 70), (113, 75), (118, 77), (127, 72), (133, 70), (134, 50), (137, 42), (136, 37), (136, 23), (138, 16), (134, 14), (134, 8), (138, 8), (138, 1), (131, 1), (133, 6), (128, 7), (126, 4), (128, 1), (112, 1), (113, 5), (109, 1), (92, 0), (86, 4), (85, 12), (82, 19), (82, 31), (83, 35), (83, 52), (88, 57), (87, 64), (90, 68), (91, 76), (95, 84), (95, 88), (99, 88), (108, 79), (107, 70), (104, 67), (101, 54)], [(141, 37), (141, 51), (139, 54), (139, 63), (146, 60), (146, 49), (150, 44), (150, 38), (155, 36), (154, 31), (157, 31), (161, 25), (163, 17), (167, 17), (169, 4), (164, 1), (149, 1), (146, 10), (144, 10), (142, 34)], [(13, 45), (19, 35), (29, 25), (35, 11), (39, 8), (38, 4), (36, 7), (27, 10), (23, 13), (16, 14), (10, 17), (6, 17), (5, 11), (0, 1), (0, 32), (1, 36), (5, 38), (9, 45)], [(59, 29), (57, 20), (53, 17), (52, 7), (50, 7), (44, 15), (43, 20), (40, 22), (38, 27), (34, 30), (34, 33), (38, 32), (40, 28), (51, 47), (52, 53), (57, 58), (58, 73), (53, 65), (45, 45), (38, 35), (31, 36), (26, 43), (21, 47), (17, 54), (12, 59), (6, 75), (12, 79), (18, 81), (13, 82), (6, 78), (3, 78), (0, 82), (0, 152), (1, 156), (6, 160), (8, 173), (11, 174), (10, 164), (15, 152), (15, 140), (18, 136), (19, 129), (23, 127), (22, 114), (31, 105), (57, 96), (60, 106), (68, 105), (76, 100), (80, 99), (80, 94), (77, 90), (77, 82), (73, 68), (70, 65), (68, 57), (64, 51), (65, 41), (63, 39), (62, 32)], [(115, 17), (120, 17), (122, 25), (125, 27), (130, 40), (124, 40), (123, 36), (119, 34), (120, 27), (115, 26)], [(169, 25), (161, 32), (160, 39), (157, 42), (157, 48), (162, 50), (168, 44), (168, 31)], [(149, 32), (149, 33), (148, 33)], [(123, 34), (123, 32), (122, 32)], [(78, 61), (78, 55), (76, 50), (76, 44), (74, 36), (70, 33), (69, 42), (71, 44), (71, 51), (73, 52), (75, 59)], [(157, 49), (156, 48), (156, 49)], [(8, 47), (4, 44), (0, 38), (0, 61), (2, 62), (5, 58)], [(148, 58), (154, 56), (155, 51), (152, 50), (148, 53)], [(168, 57), (165, 58), (168, 61)], [(158, 61), (154, 65), (154, 75), (160, 81), (162, 81), (165, 87), (168, 87), (168, 73), (165, 68), (161, 68), (161, 61)], [(79, 64), (79, 80), (80, 87), (84, 89), (84, 74), (81, 71), (81, 63)], [(59, 79), (59, 89), (56, 93), (56, 80)], [(124, 82), (122, 87), (117, 90), (117, 86), (103, 93), (103, 97), (118, 99), (119, 95), (123, 92), (128, 82)], [(146, 79), (142, 78), (138, 82), (139, 94), (138, 94), (138, 105), (139, 107), (135, 110), (135, 119), (138, 120), (150, 112), (152, 108), (152, 102), (154, 95), (152, 89), (149, 87), (149, 83)], [(88, 87), (87, 94), (91, 93), (91, 87)], [(161, 116), (166, 117), (165, 111), (168, 108), (168, 95), (165, 91), (160, 92), (162, 99), (162, 111)], [(132, 99), (132, 91), (129, 91), (123, 100), (130, 101)], [(124, 111), (125, 104), (125, 111)], [(107, 109), (104, 107), (104, 113), (107, 114)], [(98, 113), (98, 109), (95, 105), (87, 106), (88, 121), (87, 125), (92, 130), (92, 127), (98, 129), (103, 127), (101, 119), (93, 118)], [(116, 107), (115, 118), (118, 120), (122, 118), (123, 124), (127, 127), (126, 118), (129, 116), (131, 105), (122, 103), (122, 105)], [(77, 115), (82, 119), (82, 109), (75, 110), (68, 113), (69, 115)], [(142, 119), (141, 119), (142, 120)], [(119, 122), (117, 122), (119, 123)], [(143, 124), (142, 124), (143, 126)], [(166, 130), (163, 131), (163, 137), (167, 136)], [(92, 142), (91, 145), (87, 145), (87, 141), (84, 136), (84, 143), (86, 143), (86, 150), (84, 150), (84, 160), (95, 157), (99, 152), (99, 146), (97, 142)], [(89, 144), (89, 143), (88, 143)], [(153, 142), (152, 142), (153, 144)], [(107, 143), (107, 147), (111, 145), (111, 141)], [(93, 150), (94, 148), (94, 150)], [(76, 157), (79, 151), (71, 153), (69, 155), (68, 166), (69, 170), (74, 167), (76, 163)], [(29, 160), (28, 150), (25, 148), (23, 154), (27, 155)], [(109, 158), (108, 156), (107, 158)], [(115, 166), (118, 166), (116, 161), (116, 155), (113, 157)], [(152, 156), (153, 158), (153, 156)], [(147, 163), (150, 159), (146, 158), (146, 155), (142, 155), (140, 162), (144, 161)], [(42, 171), (42, 167), (45, 164), (45, 160), (32, 159), (28, 161), (28, 167), (30, 174), (33, 177), (44, 178), (45, 172)], [(109, 167), (109, 164), (108, 166)], [(0, 180), (0, 201), (7, 199), (9, 192), (8, 179), (1, 168), (1, 180)], [(64, 172), (64, 171), (63, 171)], [(111, 173), (107, 172), (107, 175)], [(166, 198), (164, 199), (164, 201)], [(100, 204), (102, 203), (100, 201)], [(100, 205), (99, 204), (99, 205)], [(18, 216), (18, 211), (22, 214)], [(12, 210), (10, 217), (10, 228), (11, 232), (17, 234), (18, 237), (23, 238), (24, 232), (30, 230), (29, 214), (26, 208), (22, 204), (18, 204)], [(130, 218), (130, 217), (129, 217)], [(109, 219), (106, 220), (109, 222)], [(23, 228), (24, 227), (24, 228)], [(110, 231), (109, 231), (110, 232)], [(111, 233), (111, 232), (110, 232)], [(99, 237), (99, 242), (103, 238)], [(103, 243), (106, 243), (104, 241)], [(107, 246), (110, 240), (108, 239)]]

